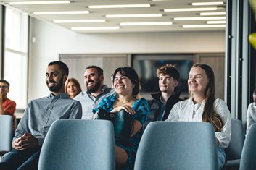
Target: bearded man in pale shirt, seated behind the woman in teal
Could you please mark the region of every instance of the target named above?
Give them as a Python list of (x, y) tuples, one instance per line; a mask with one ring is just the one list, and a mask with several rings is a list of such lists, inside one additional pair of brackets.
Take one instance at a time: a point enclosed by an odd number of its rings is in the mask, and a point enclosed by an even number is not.
[(84, 72), (84, 84), (86, 85), (87, 91), (81, 92), (74, 98), (82, 103), (82, 119), (93, 119), (94, 114), (92, 113), (92, 109), (98, 106), (102, 98), (115, 93), (113, 88), (108, 88), (107, 85), (104, 85), (103, 80), (103, 70), (100, 67), (86, 67), (86, 72)]

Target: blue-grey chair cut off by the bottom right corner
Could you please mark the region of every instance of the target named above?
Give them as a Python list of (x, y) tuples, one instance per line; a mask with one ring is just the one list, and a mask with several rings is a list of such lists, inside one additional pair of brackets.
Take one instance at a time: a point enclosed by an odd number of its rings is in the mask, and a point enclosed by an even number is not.
[(240, 170), (256, 169), (256, 124), (249, 127), (241, 152)]

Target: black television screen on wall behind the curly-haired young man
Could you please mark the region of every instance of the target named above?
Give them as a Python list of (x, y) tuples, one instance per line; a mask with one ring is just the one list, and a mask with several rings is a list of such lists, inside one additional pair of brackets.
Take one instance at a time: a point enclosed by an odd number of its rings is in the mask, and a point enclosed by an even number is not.
[(145, 55), (133, 56), (133, 68), (139, 75), (141, 93), (155, 93), (159, 91), (157, 69), (164, 64), (176, 64), (180, 72), (178, 90), (188, 92), (189, 70), (193, 64), (193, 56)]

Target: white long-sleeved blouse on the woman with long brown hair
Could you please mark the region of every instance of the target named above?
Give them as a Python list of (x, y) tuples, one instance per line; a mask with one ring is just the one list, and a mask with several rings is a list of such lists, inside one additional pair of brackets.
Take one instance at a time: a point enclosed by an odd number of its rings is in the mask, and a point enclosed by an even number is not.
[[(220, 142), (219, 147), (227, 148), (231, 140), (231, 114), (223, 100), (218, 98), (213, 105), (216, 113), (220, 114), (223, 121), (221, 132), (215, 132), (215, 136)], [(186, 101), (180, 101), (173, 106), (166, 121), (202, 122), (204, 106), (205, 100), (202, 101), (202, 104), (194, 104), (191, 98)]]

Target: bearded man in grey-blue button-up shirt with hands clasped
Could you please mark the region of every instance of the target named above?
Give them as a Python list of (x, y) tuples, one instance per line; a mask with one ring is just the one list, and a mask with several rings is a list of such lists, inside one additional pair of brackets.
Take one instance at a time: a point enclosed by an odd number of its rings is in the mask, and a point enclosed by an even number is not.
[(41, 145), (51, 124), (57, 119), (80, 119), (82, 106), (64, 91), (68, 67), (61, 61), (49, 63), (46, 69), (48, 97), (30, 101), (15, 130), (12, 151), (4, 156), (0, 169), (37, 169)]

